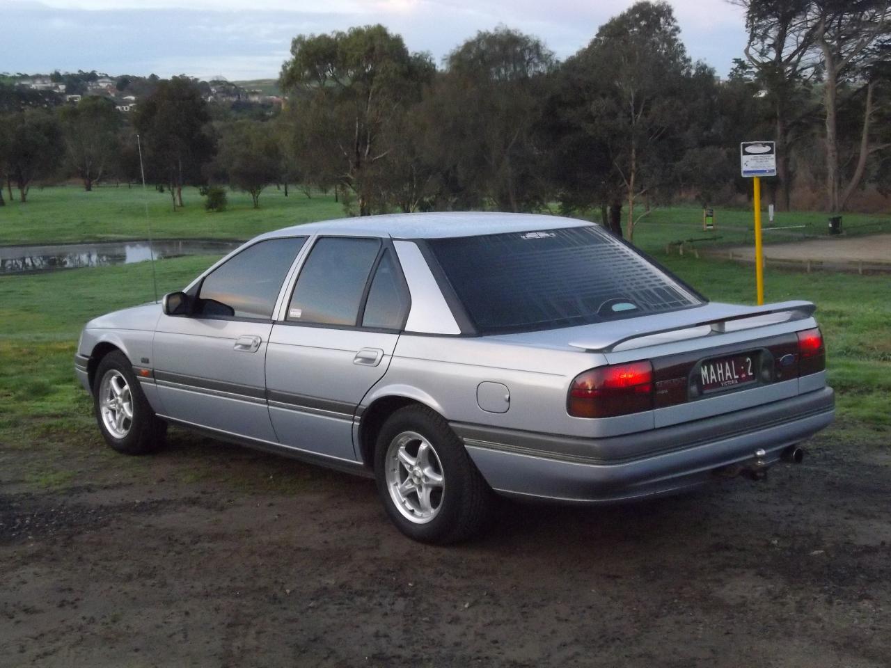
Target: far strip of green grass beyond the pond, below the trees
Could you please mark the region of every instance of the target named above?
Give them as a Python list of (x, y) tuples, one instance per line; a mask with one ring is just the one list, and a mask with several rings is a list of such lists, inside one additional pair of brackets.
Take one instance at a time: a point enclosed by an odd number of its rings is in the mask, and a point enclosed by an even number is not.
[[(0, 245), (44, 242), (146, 239), (148, 226), (156, 239), (215, 238), (249, 239), (260, 232), (286, 225), (307, 223), (344, 215), (331, 194), (314, 193), (312, 199), (296, 188), (290, 196), (274, 187), (260, 196), (260, 208), (251, 208), (250, 197), (230, 191), (229, 208), (223, 213), (204, 210), (198, 191), (184, 190), (185, 207), (174, 212), (167, 193), (141, 187), (102, 186), (86, 192), (76, 186), (32, 190), (24, 205), (8, 202), (0, 208)], [(148, 202), (149, 220), (145, 216)], [(715, 244), (737, 245), (753, 240), (752, 213), (741, 209), (717, 209), (717, 229), (703, 232), (702, 210), (691, 207), (658, 208), (642, 219), (635, 243), (648, 251), (665, 248), (673, 241), (695, 239), (700, 248)], [(826, 214), (779, 213), (764, 242), (788, 241), (804, 236), (825, 236)], [(767, 226), (766, 215), (764, 224)], [(849, 214), (844, 220), (847, 234), (891, 232), (891, 216)]]

